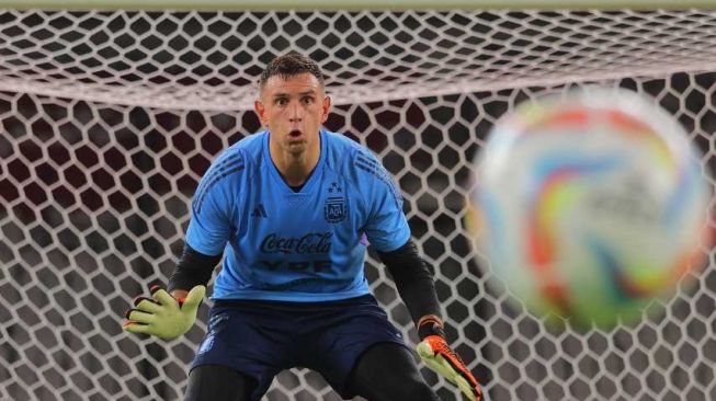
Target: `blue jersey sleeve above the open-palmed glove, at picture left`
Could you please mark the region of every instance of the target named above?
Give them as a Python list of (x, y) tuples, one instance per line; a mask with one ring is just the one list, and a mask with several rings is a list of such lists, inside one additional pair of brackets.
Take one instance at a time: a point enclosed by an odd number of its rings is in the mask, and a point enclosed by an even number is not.
[(206, 255), (219, 255), (231, 236), (234, 197), (230, 176), (243, 170), (243, 161), (234, 156), (219, 158), (202, 177), (192, 199), (192, 217), (186, 243)]

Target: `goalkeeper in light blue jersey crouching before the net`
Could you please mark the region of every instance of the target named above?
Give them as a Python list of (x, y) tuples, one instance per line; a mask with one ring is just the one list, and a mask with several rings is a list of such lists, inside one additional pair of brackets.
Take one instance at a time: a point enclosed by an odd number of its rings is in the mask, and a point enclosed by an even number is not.
[(292, 367), (319, 373), (343, 398), (439, 400), (368, 293), (370, 243), (417, 325), (418, 354), (469, 400), (481, 400), (445, 342), (399, 191), (370, 150), (322, 127), (331, 99), (320, 68), (296, 53), (275, 58), (254, 107), (265, 129), (213, 162), (194, 194), (168, 290), (154, 286), (151, 298), (137, 298), (124, 329), (163, 339), (185, 333), (224, 256), (186, 400), (255, 401)]

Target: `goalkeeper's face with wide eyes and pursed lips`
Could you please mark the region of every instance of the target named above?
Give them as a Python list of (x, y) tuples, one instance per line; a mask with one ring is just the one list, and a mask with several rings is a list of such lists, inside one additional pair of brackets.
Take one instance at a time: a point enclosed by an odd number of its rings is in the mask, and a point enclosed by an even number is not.
[(330, 104), (318, 79), (306, 72), (269, 78), (254, 108), (271, 131), (271, 141), (296, 154), (318, 151), (318, 129), (328, 118)]

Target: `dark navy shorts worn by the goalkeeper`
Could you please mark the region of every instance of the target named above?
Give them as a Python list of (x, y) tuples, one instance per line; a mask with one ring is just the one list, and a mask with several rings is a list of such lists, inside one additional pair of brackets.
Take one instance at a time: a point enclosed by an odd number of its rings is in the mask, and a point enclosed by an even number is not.
[(254, 378), (258, 401), (284, 369), (306, 367), (343, 398), (361, 354), (402, 335), (371, 295), (327, 302), (217, 300), (192, 368), (221, 365)]

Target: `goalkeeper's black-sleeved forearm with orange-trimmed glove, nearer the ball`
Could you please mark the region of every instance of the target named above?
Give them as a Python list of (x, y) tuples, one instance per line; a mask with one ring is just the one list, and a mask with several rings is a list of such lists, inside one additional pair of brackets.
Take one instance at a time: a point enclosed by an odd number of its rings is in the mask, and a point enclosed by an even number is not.
[(477, 379), (445, 341), (432, 273), (418, 254), (416, 244), (408, 240), (395, 251), (378, 251), (378, 256), (393, 275), (398, 294), (418, 328), (418, 355), (429, 368), (459, 387), (469, 400), (481, 401), (482, 390)]

